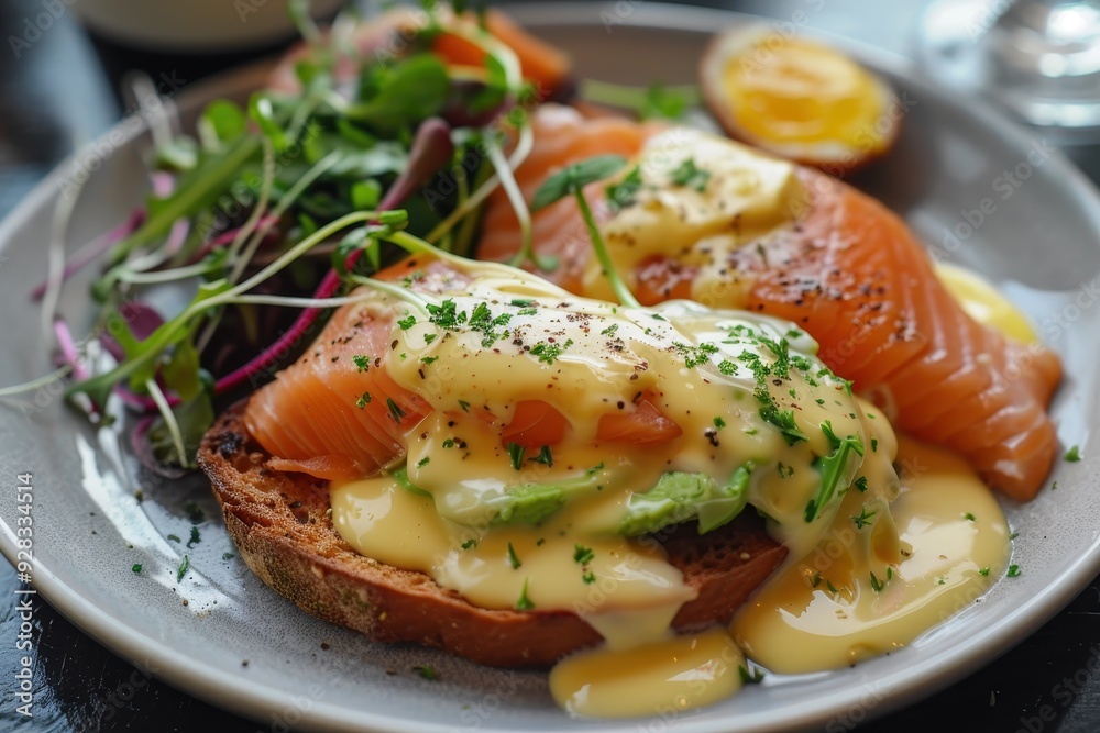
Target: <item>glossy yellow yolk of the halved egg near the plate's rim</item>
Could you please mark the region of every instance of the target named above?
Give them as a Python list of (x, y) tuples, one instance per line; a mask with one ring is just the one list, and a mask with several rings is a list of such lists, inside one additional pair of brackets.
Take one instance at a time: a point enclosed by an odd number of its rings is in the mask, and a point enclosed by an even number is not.
[(779, 143), (884, 142), (873, 77), (832, 48), (803, 41), (759, 41), (728, 60), (726, 99), (750, 134)]

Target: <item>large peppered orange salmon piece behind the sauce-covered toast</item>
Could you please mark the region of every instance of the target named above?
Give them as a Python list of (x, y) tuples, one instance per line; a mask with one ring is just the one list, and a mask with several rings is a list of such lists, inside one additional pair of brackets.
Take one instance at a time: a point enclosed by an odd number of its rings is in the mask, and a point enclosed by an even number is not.
[[(554, 171), (596, 154), (632, 156), (656, 129), (619, 119), (586, 120), (566, 108), (532, 115), (535, 148), (516, 171), (530, 201)], [(1046, 406), (1062, 377), (1058, 357), (970, 319), (936, 278), (926, 251), (886, 207), (824, 174), (800, 169), (809, 192), (790, 224), (729, 254), (730, 302), (788, 319), (821, 344), (820, 356), (875, 400), (894, 425), (965, 456), (990, 486), (1034, 497), (1057, 454)], [(605, 186), (585, 189), (598, 223), (613, 215)], [(544, 277), (585, 293), (593, 256), (575, 203), (535, 214), (535, 248), (556, 256)], [(484, 259), (507, 260), (519, 229), (507, 199), (488, 201), (479, 244)], [(675, 253), (622, 273), (644, 303), (686, 298), (696, 271)], [(748, 278), (745, 288), (738, 285)], [(735, 295), (738, 297), (735, 299)]]

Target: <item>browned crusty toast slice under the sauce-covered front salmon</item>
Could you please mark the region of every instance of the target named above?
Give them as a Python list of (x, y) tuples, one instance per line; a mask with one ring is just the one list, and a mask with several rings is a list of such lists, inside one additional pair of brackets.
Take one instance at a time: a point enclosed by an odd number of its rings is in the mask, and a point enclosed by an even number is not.
[[(416, 642), (499, 667), (549, 666), (601, 641), (570, 611), (477, 608), (422, 573), (360, 555), (332, 525), (327, 481), (266, 468), (270, 456), (246, 434), (243, 410), (238, 403), (210, 429), (199, 465), (245, 563), (306, 611), (378, 642)], [(787, 556), (754, 512), (703, 536), (682, 526), (661, 542), (698, 592), (673, 621), (682, 631), (727, 622)]]

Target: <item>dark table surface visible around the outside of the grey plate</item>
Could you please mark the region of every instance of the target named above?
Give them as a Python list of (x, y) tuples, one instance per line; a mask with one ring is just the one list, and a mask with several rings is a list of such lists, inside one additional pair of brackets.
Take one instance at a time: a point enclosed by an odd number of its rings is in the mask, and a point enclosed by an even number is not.
[[(58, 7), (68, 4), (58, 1)], [(735, 10), (790, 18), (812, 4), (811, 25), (906, 54), (924, 0), (728, 0), (704, 2)], [(92, 42), (65, 10), (33, 43), (24, 37), (41, 0), (0, 2), (0, 215), (74, 146), (101, 134), (122, 113), (113, 89), (129, 65), (170, 68), (186, 85), (237, 58), (133, 56)], [(26, 36), (29, 37), (29, 36)], [(243, 59), (243, 58), (242, 58)], [(1100, 180), (1098, 147), (1070, 151), (1078, 165)], [(2, 448), (0, 448), (2, 449)], [(194, 731), (265, 730), (191, 698), (156, 679), (81, 633), (48, 603), (38, 602), (32, 640), (34, 718), (14, 713), (14, 642), (20, 618), (14, 570), (0, 563), (0, 730), (19, 731)], [(1057, 617), (986, 668), (947, 690), (899, 712), (862, 722), (879, 731), (1100, 731), (1100, 579)], [(9, 643), (10, 642), (10, 643)], [(862, 714), (834, 721), (851, 730)], [(839, 723), (839, 726), (837, 726)], [(733, 724), (732, 724), (733, 729)]]

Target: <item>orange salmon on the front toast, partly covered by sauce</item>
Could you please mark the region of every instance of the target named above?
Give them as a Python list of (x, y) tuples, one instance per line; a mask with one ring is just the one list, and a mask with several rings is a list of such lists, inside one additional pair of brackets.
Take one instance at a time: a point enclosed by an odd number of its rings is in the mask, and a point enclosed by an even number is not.
[[(470, 277), (432, 258), (408, 258), (375, 276), (404, 280), (422, 293), (457, 292)], [(377, 300), (338, 309), (314, 344), (275, 380), (250, 398), (243, 421), (274, 470), (326, 480), (351, 480), (393, 468), (405, 455), (404, 438), (435, 408), (386, 373), (399, 304)], [(604, 415), (600, 443), (652, 445), (683, 433), (649, 401)], [(471, 414), (496, 426), (502, 446), (537, 451), (565, 440), (569, 418), (541, 400), (518, 399), (507, 422), (471, 406)]]

